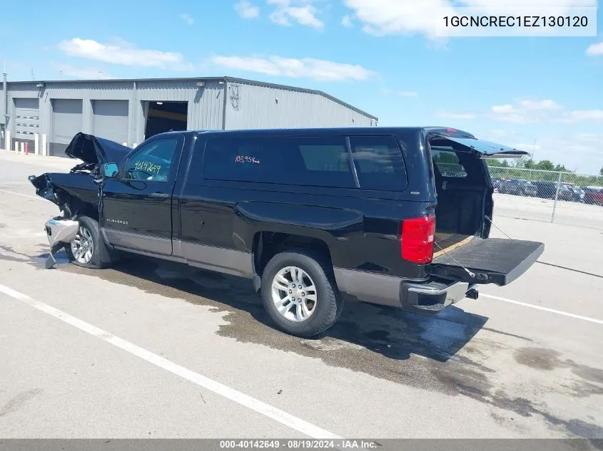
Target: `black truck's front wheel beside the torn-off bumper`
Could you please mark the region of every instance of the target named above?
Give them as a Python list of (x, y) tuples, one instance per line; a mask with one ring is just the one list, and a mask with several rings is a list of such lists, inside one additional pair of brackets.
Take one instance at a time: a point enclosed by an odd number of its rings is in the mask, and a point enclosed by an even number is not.
[(101, 261), (101, 234), (98, 222), (91, 217), (78, 217), (79, 229), (75, 239), (65, 244), (65, 251), (71, 263), (83, 268), (100, 269), (106, 266)]

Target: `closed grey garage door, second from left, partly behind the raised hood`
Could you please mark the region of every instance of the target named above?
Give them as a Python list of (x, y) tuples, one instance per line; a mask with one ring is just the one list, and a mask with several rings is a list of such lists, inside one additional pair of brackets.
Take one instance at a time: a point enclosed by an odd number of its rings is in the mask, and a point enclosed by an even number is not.
[(82, 101), (55, 98), (52, 102), (52, 135), (49, 155), (66, 157), (65, 149), (82, 128)]

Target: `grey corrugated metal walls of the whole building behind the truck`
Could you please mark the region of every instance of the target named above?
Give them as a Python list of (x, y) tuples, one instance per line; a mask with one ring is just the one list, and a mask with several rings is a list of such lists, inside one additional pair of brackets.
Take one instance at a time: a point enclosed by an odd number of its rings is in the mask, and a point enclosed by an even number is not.
[[(201, 81), (203, 85), (199, 86), (198, 82)], [(99, 105), (96, 104), (95, 107), (95, 102), (127, 101), (127, 120), (121, 113), (127, 128), (125, 139), (123, 129), (114, 139), (127, 142), (128, 145), (140, 144), (145, 138), (145, 105), (157, 101), (187, 102), (188, 130), (376, 125), (366, 113), (320, 93), (233, 79), (11, 82), (8, 95), (8, 129), (11, 130), (11, 135), (15, 136), (16, 119), (12, 100), (24, 98), (32, 99), (33, 102), (33, 99), (39, 99), (39, 133), (46, 134), (49, 143), (53, 142), (56, 135), (64, 135), (63, 132), (54, 130), (52, 104), (56, 101), (60, 104), (61, 100), (69, 99), (80, 100), (81, 120), (74, 127), (78, 128), (76, 131), (83, 133), (95, 133), (99, 126), (101, 130), (106, 127), (98, 125), (98, 120), (103, 119), (95, 117), (95, 108)], [(116, 127), (113, 124), (109, 128)], [(73, 130), (70, 129), (69, 133)], [(61, 138), (61, 144), (64, 144), (62, 141), (64, 139)]]

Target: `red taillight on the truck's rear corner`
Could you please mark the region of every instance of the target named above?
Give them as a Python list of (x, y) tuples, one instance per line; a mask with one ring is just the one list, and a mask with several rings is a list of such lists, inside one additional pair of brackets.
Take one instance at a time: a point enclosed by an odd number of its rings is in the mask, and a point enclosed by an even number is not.
[(435, 216), (402, 221), (402, 259), (418, 264), (430, 263), (433, 258)]

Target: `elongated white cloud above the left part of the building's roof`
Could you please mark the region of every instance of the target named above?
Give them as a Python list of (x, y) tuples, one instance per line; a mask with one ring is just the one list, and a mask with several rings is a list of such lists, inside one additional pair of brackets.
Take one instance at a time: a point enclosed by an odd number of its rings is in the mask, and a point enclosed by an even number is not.
[(61, 41), (58, 45), (66, 55), (103, 61), (103, 63), (174, 70), (191, 68), (185, 63), (181, 53), (137, 48), (126, 42), (104, 44), (92, 39), (74, 38), (69, 41)]

